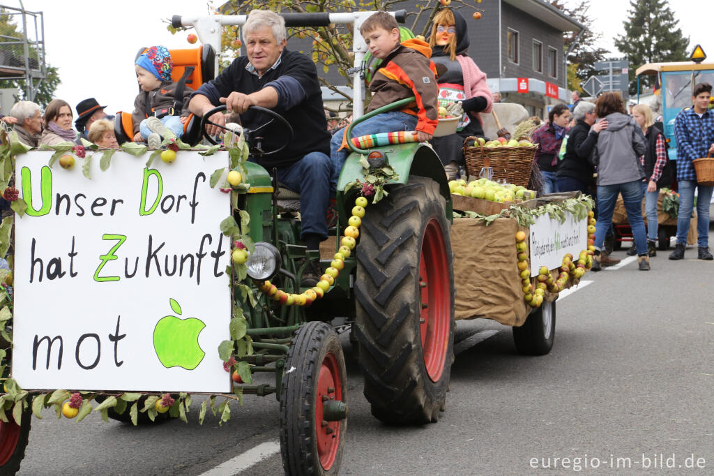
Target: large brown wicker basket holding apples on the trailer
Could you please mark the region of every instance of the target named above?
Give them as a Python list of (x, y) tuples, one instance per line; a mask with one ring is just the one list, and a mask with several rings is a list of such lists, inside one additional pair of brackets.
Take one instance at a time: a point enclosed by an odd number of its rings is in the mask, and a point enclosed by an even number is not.
[(506, 180), (509, 184), (528, 187), (533, 168), (533, 157), (537, 145), (530, 147), (483, 147), (470, 144), (476, 137), (467, 137), (463, 142), (463, 158), (466, 159), (466, 172), (478, 177), (483, 167), (493, 169), (493, 180)]

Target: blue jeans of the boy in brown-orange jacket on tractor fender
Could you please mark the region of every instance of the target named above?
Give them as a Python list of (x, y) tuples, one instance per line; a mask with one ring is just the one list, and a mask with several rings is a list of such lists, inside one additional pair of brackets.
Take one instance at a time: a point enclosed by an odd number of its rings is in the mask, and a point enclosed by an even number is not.
[[(414, 128), (416, 128), (416, 121), (416, 116), (406, 114), (406, 112), (384, 112), (353, 127), (352, 137), (377, 134), (378, 132), (413, 131)], [(337, 189), (337, 180), (340, 178), (342, 166), (345, 164), (347, 156), (351, 152), (347, 147), (338, 151), (342, 145), (342, 136), (346, 130), (347, 128), (343, 127), (338, 130), (338, 132), (335, 132), (330, 142), (330, 159), (332, 161), (332, 177), (330, 182), (332, 192)]]

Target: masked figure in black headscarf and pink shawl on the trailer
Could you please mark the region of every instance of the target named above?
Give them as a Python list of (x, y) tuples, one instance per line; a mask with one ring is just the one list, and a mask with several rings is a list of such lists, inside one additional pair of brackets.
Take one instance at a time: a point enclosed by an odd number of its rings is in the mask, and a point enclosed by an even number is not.
[(486, 73), (468, 56), (468, 44), (463, 16), (458, 11), (441, 9), (434, 16), (429, 36), (431, 60), (440, 71), (439, 105), (461, 101), (464, 111), (456, 134), (431, 140), (449, 180), (456, 178), (458, 166), (463, 164), (463, 140), (469, 136), (483, 137), (483, 120), (478, 113), (491, 112), (493, 106), (491, 91), (486, 85)]

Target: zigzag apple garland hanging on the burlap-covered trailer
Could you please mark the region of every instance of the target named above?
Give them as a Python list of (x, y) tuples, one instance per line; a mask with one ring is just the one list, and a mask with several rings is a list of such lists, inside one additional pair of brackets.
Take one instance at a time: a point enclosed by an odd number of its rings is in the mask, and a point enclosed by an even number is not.
[(545, 289), (548, 292), (557, 294), (563, 291), (565, 284), (568, 282), (568, 277), (573, 278), (574, 282), (579, 282), (585, 271), (593, 267), (593, 254), (595, 253), (595, 214), (588, 211), (588, 249), (584, 249), (578, 256), (577, 263), (573, 262), (573, 255), (566, 253), (563, 257), (563, 264), (559, 268), (558, 279), (553, 279), (553, 274), (547, 266), (541, 266), (538, 269), (538, 277), (535, 278), (537, 283), (535, 288), (531, 283), (531, 269), (528, 267), (528, 244), (525, 232), (516, 232), (516, 253), (518, 258), (518, 271), (523, 284), (523, 299), (526, 304), (535, 308), (543, 304)]

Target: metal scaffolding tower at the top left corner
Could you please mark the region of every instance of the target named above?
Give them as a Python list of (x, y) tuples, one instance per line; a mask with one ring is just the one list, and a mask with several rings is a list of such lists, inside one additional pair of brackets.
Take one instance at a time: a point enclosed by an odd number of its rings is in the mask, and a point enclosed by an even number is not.
[(24, 99), (34, 101), (47, 77), (44, 47), (44, 16), (41, 11), (0, 5), (0, 22), (15, 26), (9, 34), (0, 32), (0, 79), (22, 81)]

